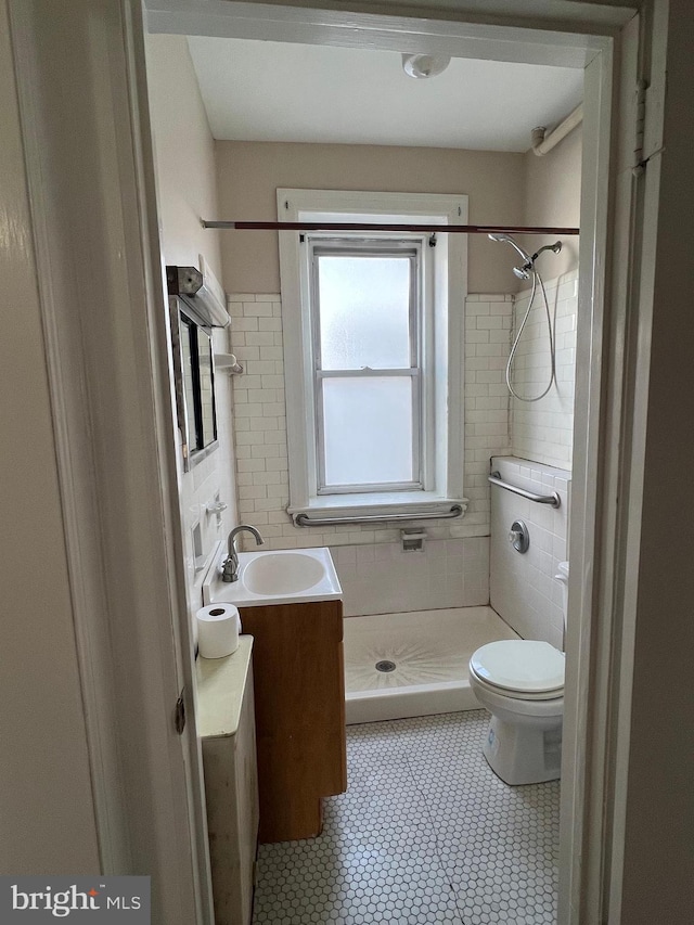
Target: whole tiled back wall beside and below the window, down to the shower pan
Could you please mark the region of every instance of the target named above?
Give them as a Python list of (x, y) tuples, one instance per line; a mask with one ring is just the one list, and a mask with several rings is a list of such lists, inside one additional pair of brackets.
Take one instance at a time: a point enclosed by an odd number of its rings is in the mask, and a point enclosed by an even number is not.
[[(295, 527), (286, 513), (288, 463), (279, 295), (229, 296), (231, 345), (245, 373), (233, 378), (239, 517), (271, 549), (333, 548), (350, 614), (474, 606), (489, 600), (489, 458), (509, 451), (503, 368), (513, 296), (472, 295), (465, 320), (465, 475), (460, 521), (429, 521), (422, 553), (403, 553), (398, 529), (345, 524)], [(375, 581), (378, 576), (378, 581)]]

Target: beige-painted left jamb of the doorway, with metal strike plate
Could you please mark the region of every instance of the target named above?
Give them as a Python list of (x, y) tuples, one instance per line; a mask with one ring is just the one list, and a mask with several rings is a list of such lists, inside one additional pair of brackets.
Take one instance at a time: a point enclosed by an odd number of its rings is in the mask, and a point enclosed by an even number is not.
[(213, 925), (142, 10), (9, 10), (101, 871)]

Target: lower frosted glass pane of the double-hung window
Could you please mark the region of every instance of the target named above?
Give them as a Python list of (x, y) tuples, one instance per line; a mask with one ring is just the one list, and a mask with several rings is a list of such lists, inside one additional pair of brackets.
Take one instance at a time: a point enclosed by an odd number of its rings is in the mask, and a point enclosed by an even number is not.
[(413, 481), (412, 377), (323, 380), (325, 485)]

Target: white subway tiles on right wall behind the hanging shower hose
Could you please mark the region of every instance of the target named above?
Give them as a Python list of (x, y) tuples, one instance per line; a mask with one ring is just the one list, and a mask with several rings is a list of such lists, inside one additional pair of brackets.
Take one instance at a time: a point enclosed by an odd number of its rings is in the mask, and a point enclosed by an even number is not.
[[(578, 270), (545, 283), (550, 314), (556, 334), (556, 385), (539, 401), (511, 402), (513, 453), (561, 468), (571, 467), (574, 435), (574, 376)], [(514, 332), (528, 307), (530, 290), (516, 296)], [(550, 376), (550, 349), (542, 293), (538, 287), (534, 308), (518, 345), (513, 385), (520, 395), (539, 395)]]

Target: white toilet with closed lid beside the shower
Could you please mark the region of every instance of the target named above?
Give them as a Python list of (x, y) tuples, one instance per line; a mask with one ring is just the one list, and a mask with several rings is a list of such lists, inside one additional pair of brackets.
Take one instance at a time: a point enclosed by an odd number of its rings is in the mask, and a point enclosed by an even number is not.
[[(568, 562), (562, 582), (564, 622)], [(564, 653), (548, 642), (501, 640), (470, 659), (470, 685), (491, 714), (483, 746), (491, 769), (506, 784), (537, 784), (560, 776), (564, 716)]]

